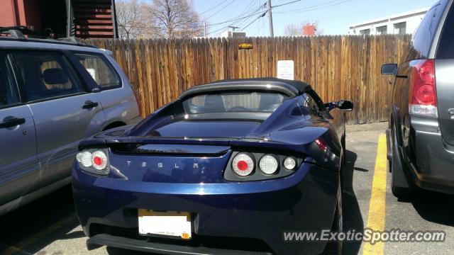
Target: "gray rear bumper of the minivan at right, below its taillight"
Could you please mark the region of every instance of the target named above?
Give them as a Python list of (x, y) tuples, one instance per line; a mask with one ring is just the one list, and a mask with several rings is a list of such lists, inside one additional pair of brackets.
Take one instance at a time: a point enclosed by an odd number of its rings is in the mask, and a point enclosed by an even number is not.
[(412, 117), (414, 158), (409, 169), (423, 189), (454, 194), (454, 148), (443, 142), (438, 121)]

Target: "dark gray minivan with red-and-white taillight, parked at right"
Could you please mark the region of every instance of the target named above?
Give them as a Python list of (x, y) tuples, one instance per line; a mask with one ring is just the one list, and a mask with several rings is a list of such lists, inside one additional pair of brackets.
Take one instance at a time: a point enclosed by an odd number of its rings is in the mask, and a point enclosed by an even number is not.
[(394, 196), (417, 188), (454, 194), (454, 1), (426, 13), (394, 75), (388, 159)]

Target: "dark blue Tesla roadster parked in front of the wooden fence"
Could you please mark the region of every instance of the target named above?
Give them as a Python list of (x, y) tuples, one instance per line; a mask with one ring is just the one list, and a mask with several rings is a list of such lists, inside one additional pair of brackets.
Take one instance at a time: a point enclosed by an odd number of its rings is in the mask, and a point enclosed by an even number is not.
[(274, 78), (184, 91), (135, 126), (80, 143), (74, 201), (88, 249), (155, 254), (339, 254), (345, 113)]

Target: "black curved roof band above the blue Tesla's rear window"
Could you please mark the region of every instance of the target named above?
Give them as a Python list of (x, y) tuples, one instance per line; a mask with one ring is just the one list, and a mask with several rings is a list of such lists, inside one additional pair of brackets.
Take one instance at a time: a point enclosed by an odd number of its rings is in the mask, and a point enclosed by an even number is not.
[(214, 81), (209, 84), (193, 86), (187, 91), (184, 91), (178, 100), (192, 96), (194, 94), (209, 93), (212, 91), (238, 91), (238, 90), (261, 90), (261, 91), (277, 91), (286, 94), (289, 97), (294, 97), (303, 94), (311, 89), (309, 84), (303, 81), (292, 81), (286, 79), (277, 79), (274, 77), (250, 78), (250, 79), (224, 79)]

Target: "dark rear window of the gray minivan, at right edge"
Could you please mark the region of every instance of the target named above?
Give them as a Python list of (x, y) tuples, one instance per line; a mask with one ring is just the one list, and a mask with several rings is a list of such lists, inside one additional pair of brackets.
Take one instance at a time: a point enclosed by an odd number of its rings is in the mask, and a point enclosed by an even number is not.
[(437, 47), (437, 58), (454, 58), (454, 8), (450, 7)]

